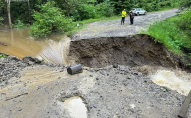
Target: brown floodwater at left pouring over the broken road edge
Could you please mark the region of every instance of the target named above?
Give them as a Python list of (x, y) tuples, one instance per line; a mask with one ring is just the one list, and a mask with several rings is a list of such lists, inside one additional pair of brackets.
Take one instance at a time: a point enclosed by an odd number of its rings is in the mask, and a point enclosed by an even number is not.
[(0, 32), (0, 42), (7, 45), (0, 44), (0, 52), (19, 58), (32, 56), (54, 64), (68, 64), (69, 37), (53, 35), (35, 40), (28, 32), (29, 29)]

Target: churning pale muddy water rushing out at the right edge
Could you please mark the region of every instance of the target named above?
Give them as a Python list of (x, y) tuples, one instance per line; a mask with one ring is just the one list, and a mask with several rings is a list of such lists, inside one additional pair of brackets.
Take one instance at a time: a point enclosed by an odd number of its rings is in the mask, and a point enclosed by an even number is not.
[(166, 89), (172, 89), (185, 96), (191, 90), (191, 76), (183, 71), (157, 70), (151, 75), (154, 83), (164, 86)]

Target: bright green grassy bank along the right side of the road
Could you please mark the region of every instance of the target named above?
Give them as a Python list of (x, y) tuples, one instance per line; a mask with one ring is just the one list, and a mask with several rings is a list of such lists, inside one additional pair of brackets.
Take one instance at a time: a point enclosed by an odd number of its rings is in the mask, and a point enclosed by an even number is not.
[[(191, 60), (191, 8), (164, 21), (156, 21), (148, 31), (142, 33), (155, 37), (156, 42), (163, 43), (171, 52)], [(190, 62), (186, 62), (191, 65)]]

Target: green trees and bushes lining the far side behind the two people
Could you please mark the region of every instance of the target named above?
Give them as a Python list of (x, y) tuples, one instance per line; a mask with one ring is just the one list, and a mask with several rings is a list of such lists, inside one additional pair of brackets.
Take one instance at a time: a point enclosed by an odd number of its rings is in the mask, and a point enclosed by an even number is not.
[[(46, 37), (53, 32), (68, 35), (97, 20), (121, 17), (121, 11), (141, 7), (148, 12), (185, 6), (189, 0), (0, 0), (0, 27), (12, 22), (14, 28), (30, 27), (31, 35)], [(30, 12), (29, 12), (30, 8)], [(10, 16), (9, 17), (9, 14)], [(112, 17), (112, 18), (110, 18)], [(107, 19), (108, 18), (108, 19)]]

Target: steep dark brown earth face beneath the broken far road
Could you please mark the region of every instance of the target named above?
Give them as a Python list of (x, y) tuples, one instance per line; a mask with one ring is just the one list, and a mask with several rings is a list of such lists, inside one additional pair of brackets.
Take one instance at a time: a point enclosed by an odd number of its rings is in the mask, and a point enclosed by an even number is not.
[[(151, 65), (175, 67), (178, 60), (161, 43), (145, 34), (71, 41), (70, 60), (88, 67)], [(179, 66), (179, 65), (178, 65)]]

